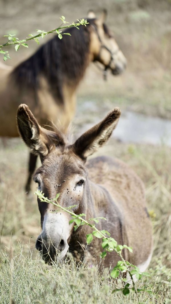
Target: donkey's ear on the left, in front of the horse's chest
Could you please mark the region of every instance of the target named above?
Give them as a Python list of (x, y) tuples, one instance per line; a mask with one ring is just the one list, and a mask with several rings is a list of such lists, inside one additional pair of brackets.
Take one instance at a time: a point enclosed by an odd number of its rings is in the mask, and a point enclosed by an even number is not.
[(60, 133), (45, 130), (38, 124), (27, 105), (19, 106), (16, 118), (19, 134), (33, 154), (46, 156), (53, 142), (64, 144)]

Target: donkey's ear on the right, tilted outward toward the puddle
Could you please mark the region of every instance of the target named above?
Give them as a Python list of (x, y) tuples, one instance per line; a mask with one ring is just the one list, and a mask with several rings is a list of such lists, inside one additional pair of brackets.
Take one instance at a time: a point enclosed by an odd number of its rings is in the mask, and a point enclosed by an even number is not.
[(117, 126), (120, 114), (120, 109), (115, 108), (100, 123), (82, 134), (72, 145), (74, 153), (82, 159), (86, 159), (86, 157), (93, 154), (108, 140)]

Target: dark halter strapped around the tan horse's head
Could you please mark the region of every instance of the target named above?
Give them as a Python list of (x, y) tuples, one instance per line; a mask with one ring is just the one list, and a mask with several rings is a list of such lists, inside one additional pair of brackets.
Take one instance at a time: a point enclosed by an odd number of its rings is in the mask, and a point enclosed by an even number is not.
[(96, 56), (96, 59), (94, 59), (94, 61), (97, 61), (97, 60), (100, 61), (100, 53), (101, 53), (101, 50), (103, 48), (106, 49), (110, 53), (109, 63), (107, 65), (104, 65), (105, 66), (104, 69), (101, 69), (98, 65), (96, 65), (101, 71), (103, 71), (103, 78), (104, 78), (104, 80), (107, 80), (107, 70), (110, 68), (110, 64), (111, 64), (112, 60), (114, 59), (113, 55), (117, 54), (119, 50), (116, 50), (115, 52), (111, 52), (111, 50), (108, 47), (106, 47), (106, 45), (102, 44), (102, 40), (101, 40), (101, 38), (99, 36), (96, 24), (92, 24), (92, 26), (94, 27), (94, 29), (96, 31), (96, 34), (98, 36), (98, 39), (99, 39), (99, 41), (101, 43), (99, 54)]

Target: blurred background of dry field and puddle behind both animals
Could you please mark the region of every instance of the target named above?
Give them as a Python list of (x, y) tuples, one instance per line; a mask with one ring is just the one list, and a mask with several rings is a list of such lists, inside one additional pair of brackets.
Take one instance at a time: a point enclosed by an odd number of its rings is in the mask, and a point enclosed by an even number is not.
[[(106, 24), (127, 58), (127, 70), (119, 76), (103, 74), (90, 64), (77, 94), (75, 134), (95, 124), (108, 110), (119, 106), (123, 112), (118, 131), (98, 154), (113, 155), (129, 164), (146, 187), (148, 211), (154, 227), (154, 255), (151, 267), (171, 266), (171, 1), (170, 0), (0, 0), (0, 43), (5, 34), (20, 39), (58, 27), (66, 21), (86, 18), (89, 9), (97, 17), (107, 9)], [(48, 35), (41, 43), (50, 39)], [(71, 37), (72, 39), (72, 37)], [(17, 65), (37, 49), (34, 41), (18, 52), (9, 47)], [(0, 57), (2, 61), (3, 58)], [(118, 132), (118, 133), (117, 133)], [(26, 199), (28, 150), (20, 139), (0, 142), (0, 230), (1, 248), (18, 241), (34, 247), (40, 231), (37, 199)], [(32, 185), (33, 191), (36, 185)], [(5, 210), (5, 204), (7, 207)], [(8, 251), (8, 249), (6, 249)], [(156, 260), (157, 259), (157, 260)], [(160, 267), (160, 278), (165, 275)], [(161, 275), (162, 273), (162, 275)], [(170, 274), (171, 276), (171, 274)]]

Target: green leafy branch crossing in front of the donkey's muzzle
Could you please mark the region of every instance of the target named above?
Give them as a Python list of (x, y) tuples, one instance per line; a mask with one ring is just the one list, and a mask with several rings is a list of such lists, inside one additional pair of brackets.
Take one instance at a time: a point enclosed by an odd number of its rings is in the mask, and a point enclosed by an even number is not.
[[(115, 279), (115, 278), (119, 277), (120, 272), (122, 272), (122, 273), (127, 272), (130, 275), (132, 283), (131, 284), (127, 283), (124, 286), (124, 288), (114, 289), (113, 292), (122, 291), (124, 295), (128, 295), (130, 292), (130, 289), (132, 289), (136, 293), (138, 299), (139, 299), (138, 292), (140, 292), (140, 291), (146, 291), (150, 294), (152, 293), (151, 289), (136, 288), (136, 285), (135, 285), (135, 282), (133, 279), (133, 275), (137, 278), (137, 280), (140, 280), (142, 275), (149, 276), (149, 274), (146, 272), (140, 272), (138, 267), (129, 263), (128, 261), (125, 261), (124, 257), (122, 256), (122, 250), (124, 248), (128, 249), (132, 253), (132, 247), (128, 247), (127, 245), (117, 244), (117, 241), (114, 240), (112, 237), (110, 237), (110, 233), (108, 231), (98, 230), (96, 228), (95, 224), (91, 224), (88, 221), (86, 221), (85, 219), (83, 219), (82, 216), (84, 216), (84, 217), (86, 216), (84, 213), (77, 215), (74, 212), (72, 212), (70, 209), (74, 208), (75, 206), (70, 206), (68, 208), (64, 208), (64, 207), (60, 206), (58, 203), (58, 197), (60, 194), (57, 194), (56, 197), (51, 200), (48, 199), (47, 197), (44, 197), (44, 193), (42, 193), (42, 191), (40, 191), (40, 190), (37, 190), (35, 192), (35, 194), (38, 196), (38, 198), (40, 199), (41, 202), (51, 203), (54, 206), (57, 206), (59, 209), (62, 209), (63, 211), (71, 214), (72, 219), (69, 221), (69, 224), (75, 222), (74, 230), (77, 230), (77, 228), (81, 225), (90, 226), (93, 229), (93, 231), (92, 231), (92, 233), (89, 233), (86, 236), (87, 244), (89, 245), (92, 242), (93, 237), (102, 238), (102, 248), (104, 251), (100, 255), (101, 258), (106, 257), (107, 251), (108, 252), (115, 251), (117, 253), (117, 255), (120, 257), (120, 261), (117, 262), (117, 265), (113, 268), (110, 275), (112, 278)], [(95, 223), (99, 223), (99, 219), (105, 219), (105, 218), (103, 218), (103, 217), (90, 218), (89, 221), (94, 221)], [(132, 285), (132, 287), (131, 287), (131, 285)]]

